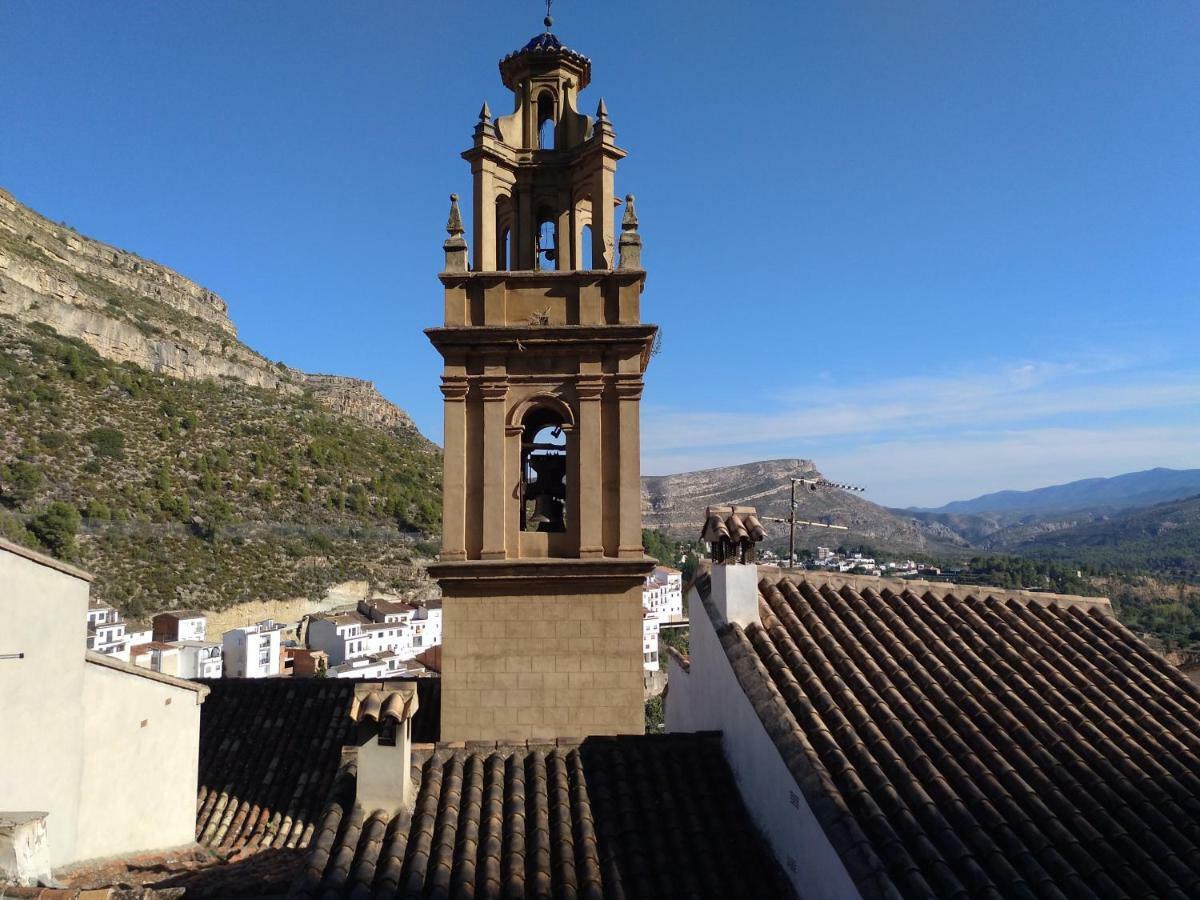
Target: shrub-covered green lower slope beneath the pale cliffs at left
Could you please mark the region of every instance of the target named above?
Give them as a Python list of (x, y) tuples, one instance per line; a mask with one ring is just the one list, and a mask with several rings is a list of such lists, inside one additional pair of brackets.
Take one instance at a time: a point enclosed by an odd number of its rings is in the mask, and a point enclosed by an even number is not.
[[(414, 432), (157, 376), (0, 317), (0, 534), (37, 545), (42, 517), (127, 612), (402, 582), (439, 526), (439, 469)], [(73, 551), (70, 516), (46, 517), (54, 502), (86, 520)]]

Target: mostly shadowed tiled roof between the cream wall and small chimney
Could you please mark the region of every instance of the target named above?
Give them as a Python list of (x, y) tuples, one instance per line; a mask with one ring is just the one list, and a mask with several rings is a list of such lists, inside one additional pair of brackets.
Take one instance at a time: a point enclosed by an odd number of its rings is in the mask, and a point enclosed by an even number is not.
[[(336, 678), (222, 678), (200, 707), (196, 839), (212, 847), (306, 847), (342, 745), (353, 743), (358, 684)], [(437, 738), (437, 679), (416, 682), (413, 739)]]

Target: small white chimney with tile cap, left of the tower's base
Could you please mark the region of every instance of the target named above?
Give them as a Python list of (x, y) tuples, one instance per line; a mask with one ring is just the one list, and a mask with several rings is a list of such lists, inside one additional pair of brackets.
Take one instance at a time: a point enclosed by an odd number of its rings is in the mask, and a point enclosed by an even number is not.
[(358, 722), (358, 802), (366, 811), (395, 812), (413, 805), (413, 716), (416, 685), (360, 684), (350, 718)]

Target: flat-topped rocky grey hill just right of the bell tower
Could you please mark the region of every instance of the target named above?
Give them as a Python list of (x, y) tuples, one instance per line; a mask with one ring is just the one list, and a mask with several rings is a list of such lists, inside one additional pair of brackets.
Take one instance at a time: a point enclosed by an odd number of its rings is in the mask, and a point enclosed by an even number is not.
[[(642, 523), (676, 536), (695, 536), (704, 508), (718, 504), (745, 504), (762, 516), (788, 515), (790, 478), (821, 478), (810, 460), (769, 460), (718, 469), (653, 475), (642, 479)], [(966, 546), (966, 541), (937, 523), (925, 524), (895, 515), (883, 506), (836, 488), (798, 491), (798, 518), (844, 524), (851, 530), (798, 532), (797, 544), (866, 542), (884, 550), (944, 552)], [(769, 544), (786, 544), (787, 526), (767, 523)], [(816, 536), (818, 535), (820, 536)]]

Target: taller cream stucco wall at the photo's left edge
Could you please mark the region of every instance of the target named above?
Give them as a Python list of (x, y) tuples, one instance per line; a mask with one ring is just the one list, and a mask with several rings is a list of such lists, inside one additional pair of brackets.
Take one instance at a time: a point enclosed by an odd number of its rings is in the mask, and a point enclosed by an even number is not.
[(0, 547), (0, 809), (43, 810), (50, 865), (76, 859), (89, 584)]

